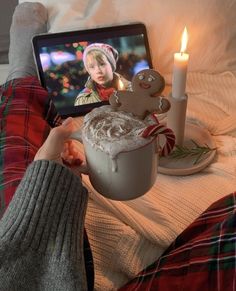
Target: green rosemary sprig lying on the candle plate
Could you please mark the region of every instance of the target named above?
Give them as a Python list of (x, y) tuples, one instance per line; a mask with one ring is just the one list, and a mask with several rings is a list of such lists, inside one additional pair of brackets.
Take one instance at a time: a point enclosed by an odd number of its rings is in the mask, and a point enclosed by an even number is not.
[(175, 149), (171, 152), (170, 157), (173, 159), (183, 159), (192, 156), (195, 157), (193, 164), (196, 165), (204, 155), (216, 150), (216, 148), (210, 148), (207, 144), (201, 146), (194, 140), (191, 141), (194, 144), (194, 147), (188, 148), (186, 146), (175, 145)]

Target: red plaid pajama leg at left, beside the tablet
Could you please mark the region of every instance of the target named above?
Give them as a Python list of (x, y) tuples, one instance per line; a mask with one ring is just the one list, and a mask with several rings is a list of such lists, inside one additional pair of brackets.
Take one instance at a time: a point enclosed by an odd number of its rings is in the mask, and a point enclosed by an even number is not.
[(49, 124), (59, 121), (37, 78), (12, 80), (0, 87), (0, 217), (47, 137)]

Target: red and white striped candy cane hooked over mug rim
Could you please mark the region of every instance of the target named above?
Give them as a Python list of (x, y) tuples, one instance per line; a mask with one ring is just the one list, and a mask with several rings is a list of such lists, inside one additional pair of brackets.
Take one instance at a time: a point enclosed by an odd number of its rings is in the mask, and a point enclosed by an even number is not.
[(161, 150), (161, 155), (167, 156), (175, 146), (175, 135), (170, 128), (167, 128), (166, 126), (160, 124), (159, 121), (157, 122), (157, 124), (152, 124), (145, 128), (141, 133), (141, 136), (147, 138), (150, 136), (158, 136), (159, 134), (164, 134), (166, 138), (166, 143)]

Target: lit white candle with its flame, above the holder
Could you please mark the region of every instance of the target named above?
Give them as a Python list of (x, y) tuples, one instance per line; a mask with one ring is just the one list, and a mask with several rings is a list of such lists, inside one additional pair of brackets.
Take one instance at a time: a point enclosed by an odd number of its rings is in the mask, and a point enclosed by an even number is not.
[(185, 52), (188, 43), (187, 28), (184, 28), (181, 40), (181, 49), (179, 53), (174, 54), (172, 96), (181, 99), (185, 95), (187, 67), (189, 55)]

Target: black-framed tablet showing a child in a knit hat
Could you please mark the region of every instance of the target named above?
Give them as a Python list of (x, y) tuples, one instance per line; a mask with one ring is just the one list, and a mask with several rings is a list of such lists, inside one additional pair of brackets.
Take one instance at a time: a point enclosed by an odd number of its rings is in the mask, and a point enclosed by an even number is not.
[(143, 24), (43, 34), (33, 38), (38, 75), (62, 117), (108, 104), (114, 90), (152, 68)]

